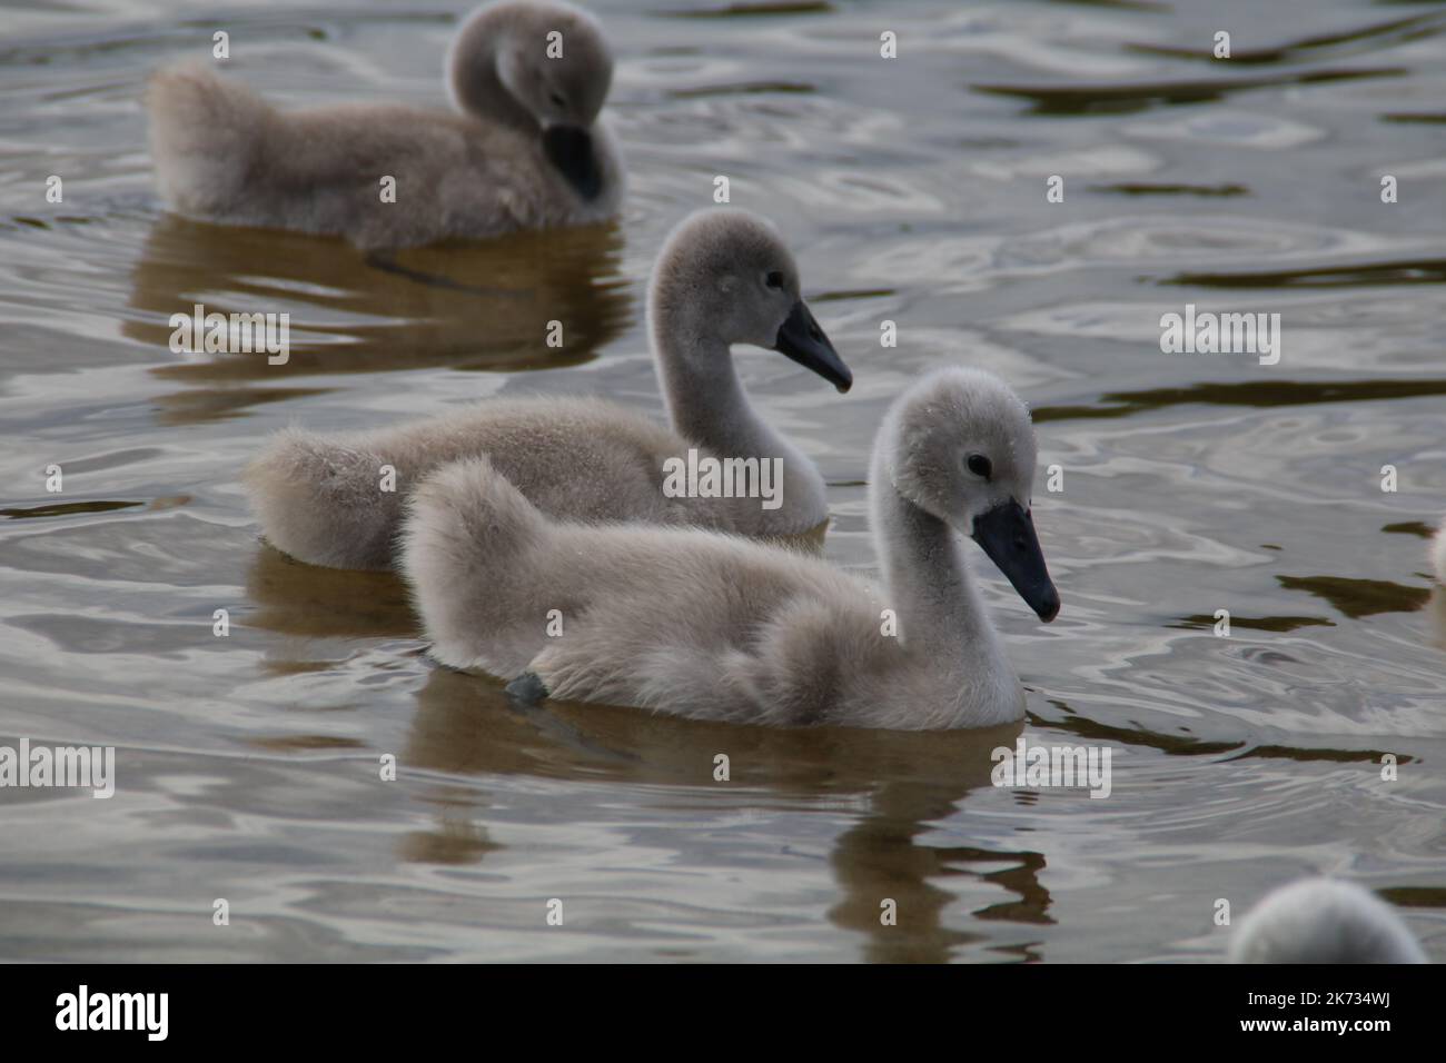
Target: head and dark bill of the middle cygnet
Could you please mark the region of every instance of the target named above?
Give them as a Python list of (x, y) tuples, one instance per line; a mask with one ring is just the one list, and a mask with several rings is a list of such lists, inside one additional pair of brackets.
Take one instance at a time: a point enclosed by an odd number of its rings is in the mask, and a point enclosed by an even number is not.
[[(743, 210), (704, 208), (668, 236), (652, 270), (648, 314), (655, 340), (683, 334), (785, 354), (840, 392), (853, 373), (803, 301), (798, 266), (778, 230)], [(717, 357), (707, 344), (684, 359)], [(707, 366), (693, 366), (707, 375)]]

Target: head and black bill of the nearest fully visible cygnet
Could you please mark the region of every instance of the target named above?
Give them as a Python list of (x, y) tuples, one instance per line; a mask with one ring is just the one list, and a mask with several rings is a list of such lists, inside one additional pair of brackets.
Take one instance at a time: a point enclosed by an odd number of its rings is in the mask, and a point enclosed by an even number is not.
[(1030, 411), (992, 373), (940, 369), (895, 401), (876, 453), (894, 489), (977, 542), (1041, 620), (1060, 612), (1030, 509)]

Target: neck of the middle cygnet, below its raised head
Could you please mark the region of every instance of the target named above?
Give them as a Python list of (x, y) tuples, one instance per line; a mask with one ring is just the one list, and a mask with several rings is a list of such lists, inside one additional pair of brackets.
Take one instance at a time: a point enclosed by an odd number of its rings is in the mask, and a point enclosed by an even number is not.
[(654, 363), (674, 430), (720, 457), (782, 458), (785, 512), (823, 519), (827, 500), (818, 470), (753, 411), (729, 344), (690, 301), (652, 302)]

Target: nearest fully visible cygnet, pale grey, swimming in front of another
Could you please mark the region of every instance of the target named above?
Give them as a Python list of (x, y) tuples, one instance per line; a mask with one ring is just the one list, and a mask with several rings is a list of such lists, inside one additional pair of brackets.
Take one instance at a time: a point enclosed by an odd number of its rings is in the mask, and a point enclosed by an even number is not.
[(882, 587), (732, 535), (551, 521), (486, 458), (414, 492), (401, 568), (432, 655), (519, 677), (519, 696), (785, 726), (991, 726), (1024, 714), (1024, 691), (954, 531), (1054, 619), (1034, 466), (1018, 396), (946, 369), (895, 401), (875, 441)]

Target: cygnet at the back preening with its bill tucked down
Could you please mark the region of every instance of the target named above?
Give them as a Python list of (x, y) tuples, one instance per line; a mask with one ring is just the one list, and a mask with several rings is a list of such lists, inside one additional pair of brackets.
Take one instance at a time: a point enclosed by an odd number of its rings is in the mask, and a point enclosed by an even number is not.
[(188, 64), (150, 81), (150, 153), (179, 214), (369, 249), (589, 224), (622, 200), (622, 162), (597, 117), (612, 75), (590, 14), (503, 0), (453, 43), (461, 114), (396, 104), (282, 113)]

